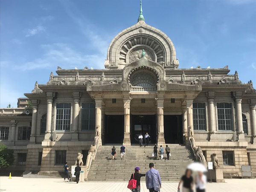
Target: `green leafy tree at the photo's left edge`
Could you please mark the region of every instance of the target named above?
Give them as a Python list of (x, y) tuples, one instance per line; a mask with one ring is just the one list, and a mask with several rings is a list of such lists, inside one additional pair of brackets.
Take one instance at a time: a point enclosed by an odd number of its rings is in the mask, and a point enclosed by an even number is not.
[(0, 168), (12, 165), (13, 161), (13, 150), (7, 148), (4, 144), (0, 144)]

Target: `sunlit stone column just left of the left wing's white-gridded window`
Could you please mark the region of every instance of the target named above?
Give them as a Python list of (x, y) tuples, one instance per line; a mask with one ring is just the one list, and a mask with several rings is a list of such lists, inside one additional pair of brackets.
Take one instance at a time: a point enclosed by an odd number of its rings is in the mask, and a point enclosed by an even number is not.
[(47, 92), (47, 116), (46, 116), (46, 131), (44, 135), (44, 140), (49, 141), (51, 137), (51, 127), (52, 127), (52, 101), (53, 93)]

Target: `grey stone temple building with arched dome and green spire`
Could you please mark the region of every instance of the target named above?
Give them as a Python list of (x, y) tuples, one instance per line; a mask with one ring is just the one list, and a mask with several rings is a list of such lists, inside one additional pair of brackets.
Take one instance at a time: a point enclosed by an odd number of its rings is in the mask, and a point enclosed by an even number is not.
[(242, 165), (256, 175), (252, 81), (242, 83), (228, 66), (182, 68), (171, 39), (145, 23), (141, 7), (137, 23), (113, 38), (103, 64), (58, 67), (24, 94), (32, 108), (0, 109), (1, 143), (15, 151), (8, 169), (56, 174), (77, 152), (89, 166), (98, 146), (132, 147), (148, 132), (152, 144), (200, 145), (206, 161), (216, 153), (224, 177), (241, 176)]

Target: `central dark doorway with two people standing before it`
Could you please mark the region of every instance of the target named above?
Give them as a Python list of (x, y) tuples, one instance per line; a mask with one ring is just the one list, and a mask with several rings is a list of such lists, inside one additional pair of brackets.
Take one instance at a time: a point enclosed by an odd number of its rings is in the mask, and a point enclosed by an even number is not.
[[(150, 142), (156, 143), (156, 116), (155, 115), (131, 115), (131, 143), (139, 143), (140, 133), (144, 135), (148, 132)], [(143, 139), (144, 143), (144, 139)]]

